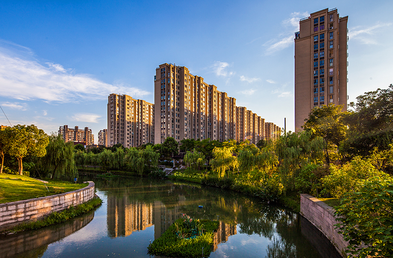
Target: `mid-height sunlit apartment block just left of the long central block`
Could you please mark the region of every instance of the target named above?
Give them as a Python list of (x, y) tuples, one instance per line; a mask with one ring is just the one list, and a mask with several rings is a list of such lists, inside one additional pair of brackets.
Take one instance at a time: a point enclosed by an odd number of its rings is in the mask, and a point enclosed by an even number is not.
[(108, 146), (154, 143), (154, 104), (128, 95), (108, 96)]

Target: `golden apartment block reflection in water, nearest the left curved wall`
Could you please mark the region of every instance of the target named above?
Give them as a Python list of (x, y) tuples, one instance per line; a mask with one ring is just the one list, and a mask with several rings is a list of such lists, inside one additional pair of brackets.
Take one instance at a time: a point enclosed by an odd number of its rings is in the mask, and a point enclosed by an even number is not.
[(153, 225), (153, 205), (129, 200), (127, 196), (108, 196), (107, 227), (110, 237), (127, 236)]

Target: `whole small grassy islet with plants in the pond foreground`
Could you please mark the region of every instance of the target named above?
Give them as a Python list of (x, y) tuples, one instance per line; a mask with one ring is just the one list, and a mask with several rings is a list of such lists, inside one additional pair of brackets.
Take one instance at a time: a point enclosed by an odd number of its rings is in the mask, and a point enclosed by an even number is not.
[(208, 257), (218, 221), (195, 220), (183, 214), (164, 234), (147, 247), (151, 255), (170, 257)]

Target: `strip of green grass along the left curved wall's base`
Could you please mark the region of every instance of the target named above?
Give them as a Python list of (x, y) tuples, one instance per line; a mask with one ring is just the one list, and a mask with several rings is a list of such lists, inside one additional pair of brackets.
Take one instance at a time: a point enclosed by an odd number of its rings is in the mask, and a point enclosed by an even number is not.
[(102, 200), (96, 195), (96, 197), (91, 199), (90, 201), (87, 201), (85, 203), (76, 206), (70, 206), (68, 209), (63, 210), (61, 212), (54, 211), (44, 219), (22, 223), (15, 226), (14, 228), (3, 231), (1, 233), (2, 234), (17, 233), (25, 230), (38, 229), (41, 227), (62, 223), (76, 216), (88, 213), (92, 211), (94, 208), (100, 206), (101, 204), (102, 204)]

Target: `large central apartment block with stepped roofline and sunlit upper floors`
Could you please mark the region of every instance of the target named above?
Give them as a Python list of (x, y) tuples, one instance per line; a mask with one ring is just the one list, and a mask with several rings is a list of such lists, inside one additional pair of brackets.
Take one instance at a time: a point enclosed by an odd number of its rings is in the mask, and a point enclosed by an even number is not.
[(155, 143), (173, 137), (225, 141), (235, 138), (236, 99), (209, 85), (187, 67), (162, 64), (155, 69)]

